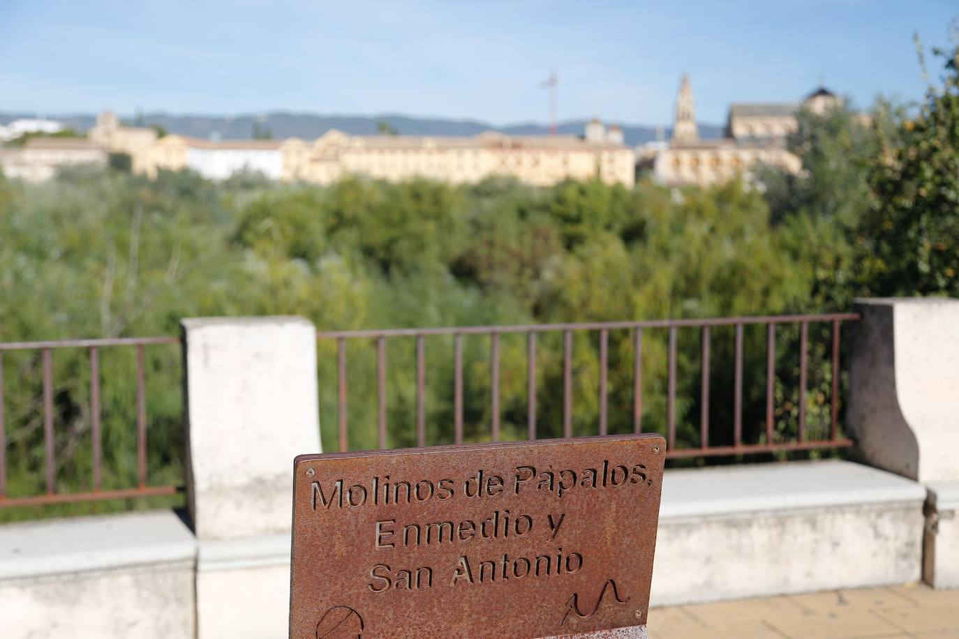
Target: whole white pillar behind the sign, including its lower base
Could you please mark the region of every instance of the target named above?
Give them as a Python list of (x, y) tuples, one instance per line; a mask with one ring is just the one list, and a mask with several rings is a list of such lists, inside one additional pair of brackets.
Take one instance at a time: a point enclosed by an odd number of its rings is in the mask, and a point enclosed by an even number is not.
[(284, 636), (292, 462), (320, 452), (316, 328), (298, 317), (181, 327), (198, 636)]

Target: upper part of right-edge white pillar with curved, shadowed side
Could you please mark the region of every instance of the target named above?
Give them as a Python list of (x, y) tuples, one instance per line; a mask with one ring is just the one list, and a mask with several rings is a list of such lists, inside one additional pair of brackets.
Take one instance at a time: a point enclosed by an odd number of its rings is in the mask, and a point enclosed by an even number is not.
[(959, 300), (857, 300), (848, 422), (865, 459), (959, 481)]

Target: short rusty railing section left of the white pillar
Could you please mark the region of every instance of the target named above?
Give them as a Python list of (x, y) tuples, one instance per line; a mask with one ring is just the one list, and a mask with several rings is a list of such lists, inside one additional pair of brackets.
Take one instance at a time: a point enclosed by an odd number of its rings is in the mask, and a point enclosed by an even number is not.
[[(147, 475), (147, 385), (145, 371), (145, 347), (157, 344), (179, 344), (178, 337), (131, 337), (114, 339), (74, 339), (61, 341), (7, 342), (0, 343), (0, 509), (15, 506), (99, 501), (129, 497), (174, 494), (177, 486), (151, 486)], [(135, 402), (136, 402), (136, 485), (129, 488), (103, 487), (103, 429), (101, 408), (101, 349), (126, 347), (135, 349)], [(64, 349), (87, 351), (89, 381), (89, 427), (92, 455), (90, 490), (58, 491), (57, 451), (55, 423), (54, 353)], [(4, 355), (12, 351), (38, 353), (42, 367), (42, 420), (43, 420), (43, 483), (41, 494), (10, 496), (7, 458), (7, 406), (4, 398)]]

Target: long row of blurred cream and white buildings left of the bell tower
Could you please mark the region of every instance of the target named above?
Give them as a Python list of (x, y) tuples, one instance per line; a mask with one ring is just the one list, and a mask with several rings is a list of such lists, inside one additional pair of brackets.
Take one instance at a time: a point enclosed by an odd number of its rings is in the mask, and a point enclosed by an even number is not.
[(473, 137), (348, 135), (330, 130), (316, 140), (199, 140), (182, 135), (157, 138), (150, 128), (123, 126), (102, 113), (90, 139), (129, 153), (133, 171), (191, 169), (210, 179), (237, 171), (262, 171), (272, 179), (328, 184), (345, 175), (386, 180), (426, 177), (451, 183), (510, 175), (549, 186), (563, 179), (597, 177), (632, 186), (636, 154), (625, 146), (620, 126), (592, 120), (582, 137), (514, 136), (488, 131)]

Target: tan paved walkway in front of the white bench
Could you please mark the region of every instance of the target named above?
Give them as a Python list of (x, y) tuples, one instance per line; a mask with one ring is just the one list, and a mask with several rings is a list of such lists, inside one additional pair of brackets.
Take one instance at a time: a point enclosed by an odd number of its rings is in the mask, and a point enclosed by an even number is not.
[(649, 610), (650, 639), (959, 639), (959, 590), (906, 585)]

